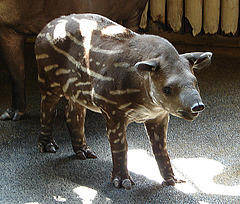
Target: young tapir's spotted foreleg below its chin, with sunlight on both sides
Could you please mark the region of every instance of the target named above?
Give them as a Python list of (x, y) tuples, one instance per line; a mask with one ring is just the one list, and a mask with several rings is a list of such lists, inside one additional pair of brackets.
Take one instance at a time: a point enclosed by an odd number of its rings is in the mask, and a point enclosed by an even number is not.
[(153, 154), (158, 164), (158, 168), (167, 185), (184, 182), (177, 180), (174, 176), (171, 162), (167, 152), (167, 128), (169, 114), (163, 113), (161, 116), (145, 122), (145, 127), (151, 141)]

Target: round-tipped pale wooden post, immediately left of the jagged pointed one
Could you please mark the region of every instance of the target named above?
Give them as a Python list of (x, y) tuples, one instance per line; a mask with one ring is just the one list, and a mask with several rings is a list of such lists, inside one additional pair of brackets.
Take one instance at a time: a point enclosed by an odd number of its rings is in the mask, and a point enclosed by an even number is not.
[(183, 17), (183, 0), (167, 0), (167, 20), (174, 32), (180, 31)]

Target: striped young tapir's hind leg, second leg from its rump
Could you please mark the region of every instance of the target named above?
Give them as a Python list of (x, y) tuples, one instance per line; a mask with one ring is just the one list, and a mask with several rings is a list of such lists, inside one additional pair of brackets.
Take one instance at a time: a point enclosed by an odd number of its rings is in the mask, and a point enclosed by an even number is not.
[(80, 159), (97, 158), (97, 156), (87, 146), (84, 134), (84, 122), (86, 116), (86, 108), (68, 101), (66, 107), (66, 122), (70, 132), (73, 150)]

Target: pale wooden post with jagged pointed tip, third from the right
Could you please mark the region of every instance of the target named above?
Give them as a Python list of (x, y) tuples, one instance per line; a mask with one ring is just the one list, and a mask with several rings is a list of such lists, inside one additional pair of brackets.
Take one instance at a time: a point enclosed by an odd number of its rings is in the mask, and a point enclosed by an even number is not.
[(202, 0), (185, 0), (185, 17), (192, 26), (193, 36), (202, 29)]

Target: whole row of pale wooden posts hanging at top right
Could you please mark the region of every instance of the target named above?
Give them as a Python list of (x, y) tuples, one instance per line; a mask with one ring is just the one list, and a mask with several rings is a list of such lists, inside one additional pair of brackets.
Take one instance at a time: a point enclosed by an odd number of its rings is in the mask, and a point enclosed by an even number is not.
[(239, 0), (150, 0), (148, 12), (165, 31), (239, 36)]

